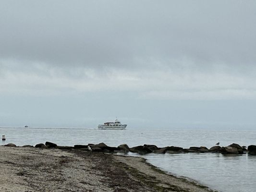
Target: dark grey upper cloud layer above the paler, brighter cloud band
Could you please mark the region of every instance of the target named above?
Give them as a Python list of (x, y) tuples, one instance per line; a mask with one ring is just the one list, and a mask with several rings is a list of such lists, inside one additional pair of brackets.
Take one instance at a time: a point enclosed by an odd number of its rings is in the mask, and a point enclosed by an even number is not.
[(93, 68), (184, 58), (252, 65), (255, 22), (252, 0), (10, 0), (0, 6), (0, 58)]

